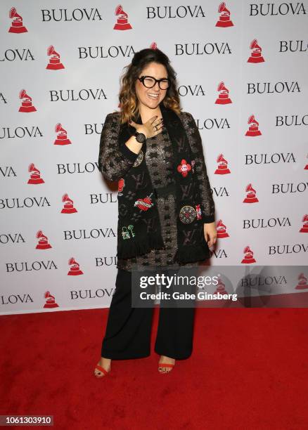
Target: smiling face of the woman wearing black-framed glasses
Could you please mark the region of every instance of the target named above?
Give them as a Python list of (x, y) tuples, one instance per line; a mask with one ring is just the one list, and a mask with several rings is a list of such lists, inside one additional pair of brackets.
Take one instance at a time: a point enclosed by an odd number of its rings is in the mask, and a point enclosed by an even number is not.
[[(155, 79), (162, 79), (167, 78), (167, 69), (164, 65), (159, 63), (150, 63), (148, 64), (140, 73), (139, 77), (141, 76), (151, 76), (155, 77)], [(139, 81), (139, 79), (136, 79), (136, 96), (139, 100), (139, 107), (140, 105), (149, 107), (150, 109), (155, 109), (158, 107), (160, 102), (165, 98), (167, 90), (162, 90), (158, 86), (158, 82), (155, 83), (155, 86), (153, 88), (146, 88), (142, 84), (142, 82)]]

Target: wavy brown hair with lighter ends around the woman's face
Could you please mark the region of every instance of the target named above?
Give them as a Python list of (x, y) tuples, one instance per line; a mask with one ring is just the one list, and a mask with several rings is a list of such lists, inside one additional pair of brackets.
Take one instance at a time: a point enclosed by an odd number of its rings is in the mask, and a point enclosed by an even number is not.
[(144, 67), (152, 62), (164, 65), (167, 70), (167, 77), (170, 79), (170, 86), (167, 89), (165, 98), (162, 100), (163, 105), (174, 110), (177, 114), (181, 112), (179, 93), (177, 91), (177, 73), (170, 65), (169, 58), (158, 48), (145, 48), (134, 54), (131, 63), (124, 67), (124, 74), (120, 78), (121, 124), (129, 122), (130, 119), (135, 121), (139, 115), (139, 102), (136, 96), (135, 83)]

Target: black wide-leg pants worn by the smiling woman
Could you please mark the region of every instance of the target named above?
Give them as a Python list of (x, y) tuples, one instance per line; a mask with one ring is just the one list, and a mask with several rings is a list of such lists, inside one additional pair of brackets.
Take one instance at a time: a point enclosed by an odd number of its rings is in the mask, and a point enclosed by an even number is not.
[[(150, 356), (153, 306), (131, 307), (131, 272), (117, 269), (101, 356), (113, 360)], [(191, 356), (195, 306), (164, 307), (160, 301), (155, 352), (176, 360)]]

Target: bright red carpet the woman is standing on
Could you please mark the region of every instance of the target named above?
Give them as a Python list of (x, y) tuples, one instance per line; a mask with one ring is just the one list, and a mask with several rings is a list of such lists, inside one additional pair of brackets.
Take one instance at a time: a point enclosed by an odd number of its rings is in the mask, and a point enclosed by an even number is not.
[(1, 316), (0, 414), (50, 414), (55, 429), (307, 428), (307, 308), (198, 308), (193, 355), (170, 374), (152, 352), (96, 379), (107, 315)]

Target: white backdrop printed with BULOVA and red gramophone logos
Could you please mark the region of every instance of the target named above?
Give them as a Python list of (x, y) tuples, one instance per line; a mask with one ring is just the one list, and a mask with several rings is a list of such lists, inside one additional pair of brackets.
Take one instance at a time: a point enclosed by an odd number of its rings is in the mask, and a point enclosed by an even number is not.
[(109, 306), (117, 184), (98, 171), (99, 138), (146, 47), (172, 60), (203, 138), (210, 264), (307, 264), (307, 14), (307, 1), (1, 1), (0, 313)]

